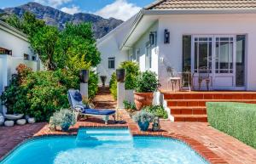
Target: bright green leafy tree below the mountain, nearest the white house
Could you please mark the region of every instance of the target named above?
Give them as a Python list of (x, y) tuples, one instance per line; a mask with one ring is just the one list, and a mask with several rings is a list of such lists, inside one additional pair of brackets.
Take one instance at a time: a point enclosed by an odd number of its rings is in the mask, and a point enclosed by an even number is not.
[(79, 25), (67, 23), (60, 36), (57, 49), (58, 67), (69, 65), (68, 56), (73, 57), (74, 55), (84, 59), (91, 66), (96, 66), (100, 63), (101, 57), (96, 48), (96, 40), (91, 31), (90, 23), (81, 23)]

